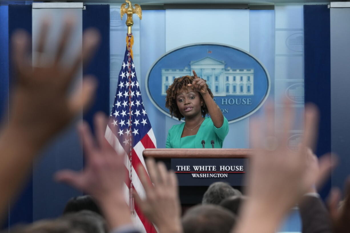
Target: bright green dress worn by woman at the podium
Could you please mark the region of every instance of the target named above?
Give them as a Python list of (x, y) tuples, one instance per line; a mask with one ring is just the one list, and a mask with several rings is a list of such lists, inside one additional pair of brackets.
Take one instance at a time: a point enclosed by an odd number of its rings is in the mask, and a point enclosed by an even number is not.
[(229, 133), (229, 122), (224, 117), (224, 123), (216, 128), (210, 117), (206, 117), (198, 129), (196, 135), (181, 137), (185, 122), (174, 125), (168, 133), (166, 148), (202, 148), (202, 140), (205, 148), (212, 148), (211, 140), (214, 140), (215, 148), (222, 148), (222, 143)]

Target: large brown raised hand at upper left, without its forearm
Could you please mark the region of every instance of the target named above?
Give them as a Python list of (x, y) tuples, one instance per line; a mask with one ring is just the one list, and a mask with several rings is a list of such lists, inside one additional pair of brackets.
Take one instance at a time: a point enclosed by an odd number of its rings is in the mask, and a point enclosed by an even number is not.
[[(66, 19), (56, 54), (45, 51), (44, 45), (50, 23), (43, 20), (38, 36), (37, 54), (33, 64), (29, 57), (29, 37), (25, 31), (12, 36), (12, 62), (15, 85), (10, 103), (10, 126), (29, 134), (33, 143), (40, 145), (66, 126), (94, 95), (96, 81), (85, 77), (81, 90), (68, 88), (82, 62), (89, 61), (99, 43), (99, 33), (85, 30), (82, 50), (70, 65), (62, 65), (64, 54), (73, 28), (73, 20)], [(51, 61), (51, 62), (50, 62)]]

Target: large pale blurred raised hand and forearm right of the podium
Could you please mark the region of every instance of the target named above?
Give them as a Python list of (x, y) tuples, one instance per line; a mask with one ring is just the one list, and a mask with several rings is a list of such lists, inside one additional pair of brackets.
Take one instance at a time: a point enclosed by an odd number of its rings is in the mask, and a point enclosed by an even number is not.
[[(294, 122), (294, 111), (286, 102), (280, 132), (274, 130), (274, 109), (266, 107), (264, 121), (251, 123), (250, 174), (247, 180), (247, 196), (250, 198), (241, 209), (235, 233), (273, 233), (286, 213), (306, 193), (318, 177), (325, 177), (330, 169), (318, 174), (307, 172), (308, 148), (313, 148), (317, 131), (316, 107), (305, 107), (304, 133), (297, 151), (288, 148), (289, 132)], [(265, 134), (262, 129), (265, 126)], [(322, 167), (332, 167), (331, 160), (322, 160)], [(267, 211), (268, 210), (268, 211)]]

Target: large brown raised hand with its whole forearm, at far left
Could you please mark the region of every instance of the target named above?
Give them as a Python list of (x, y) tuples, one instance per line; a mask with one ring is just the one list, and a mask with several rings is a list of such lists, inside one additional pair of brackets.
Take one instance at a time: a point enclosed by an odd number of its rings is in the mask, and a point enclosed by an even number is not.
[[(96, 82), (91, 77), (84, 79), (81, 90), (73, 90), (70, 96), (67, 95), (81, 62), (89, 60), (99, 42), (96, 30), (86, 30), (82, 51), (72, 65), (62, 65), (62, 54), (66, 50), (73, 24), (70, 19), (65, 21), (57, 53), (51, 54), (44, 49), (50, 23), (43, 20), (36, 51), (38, 56), (33, 65), (28, 59), (28, 34), (19, 30), (12, 35), (14, 77), (11, 78), (15, 82), (10, 92), (8, 124), (2, 122), (0, 134), (0, 219), (8, 201), (15, 196), (32, 168), (38, 150), (87, 106), (93, 97)], [(51, 64), (46, 62), (48, 58), (52, 58)]]

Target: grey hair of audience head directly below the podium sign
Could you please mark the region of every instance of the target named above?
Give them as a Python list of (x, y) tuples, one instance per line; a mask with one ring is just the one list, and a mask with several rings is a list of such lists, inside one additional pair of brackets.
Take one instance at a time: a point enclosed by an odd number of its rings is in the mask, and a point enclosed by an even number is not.
[(225, 182), (212, 183), (207, 191), (205, 191), (202, 199), (202, 204), (218, 205), (223, 199), (231, 196), (241, 196), (242, 193), (232, 188), (231, 185)]

